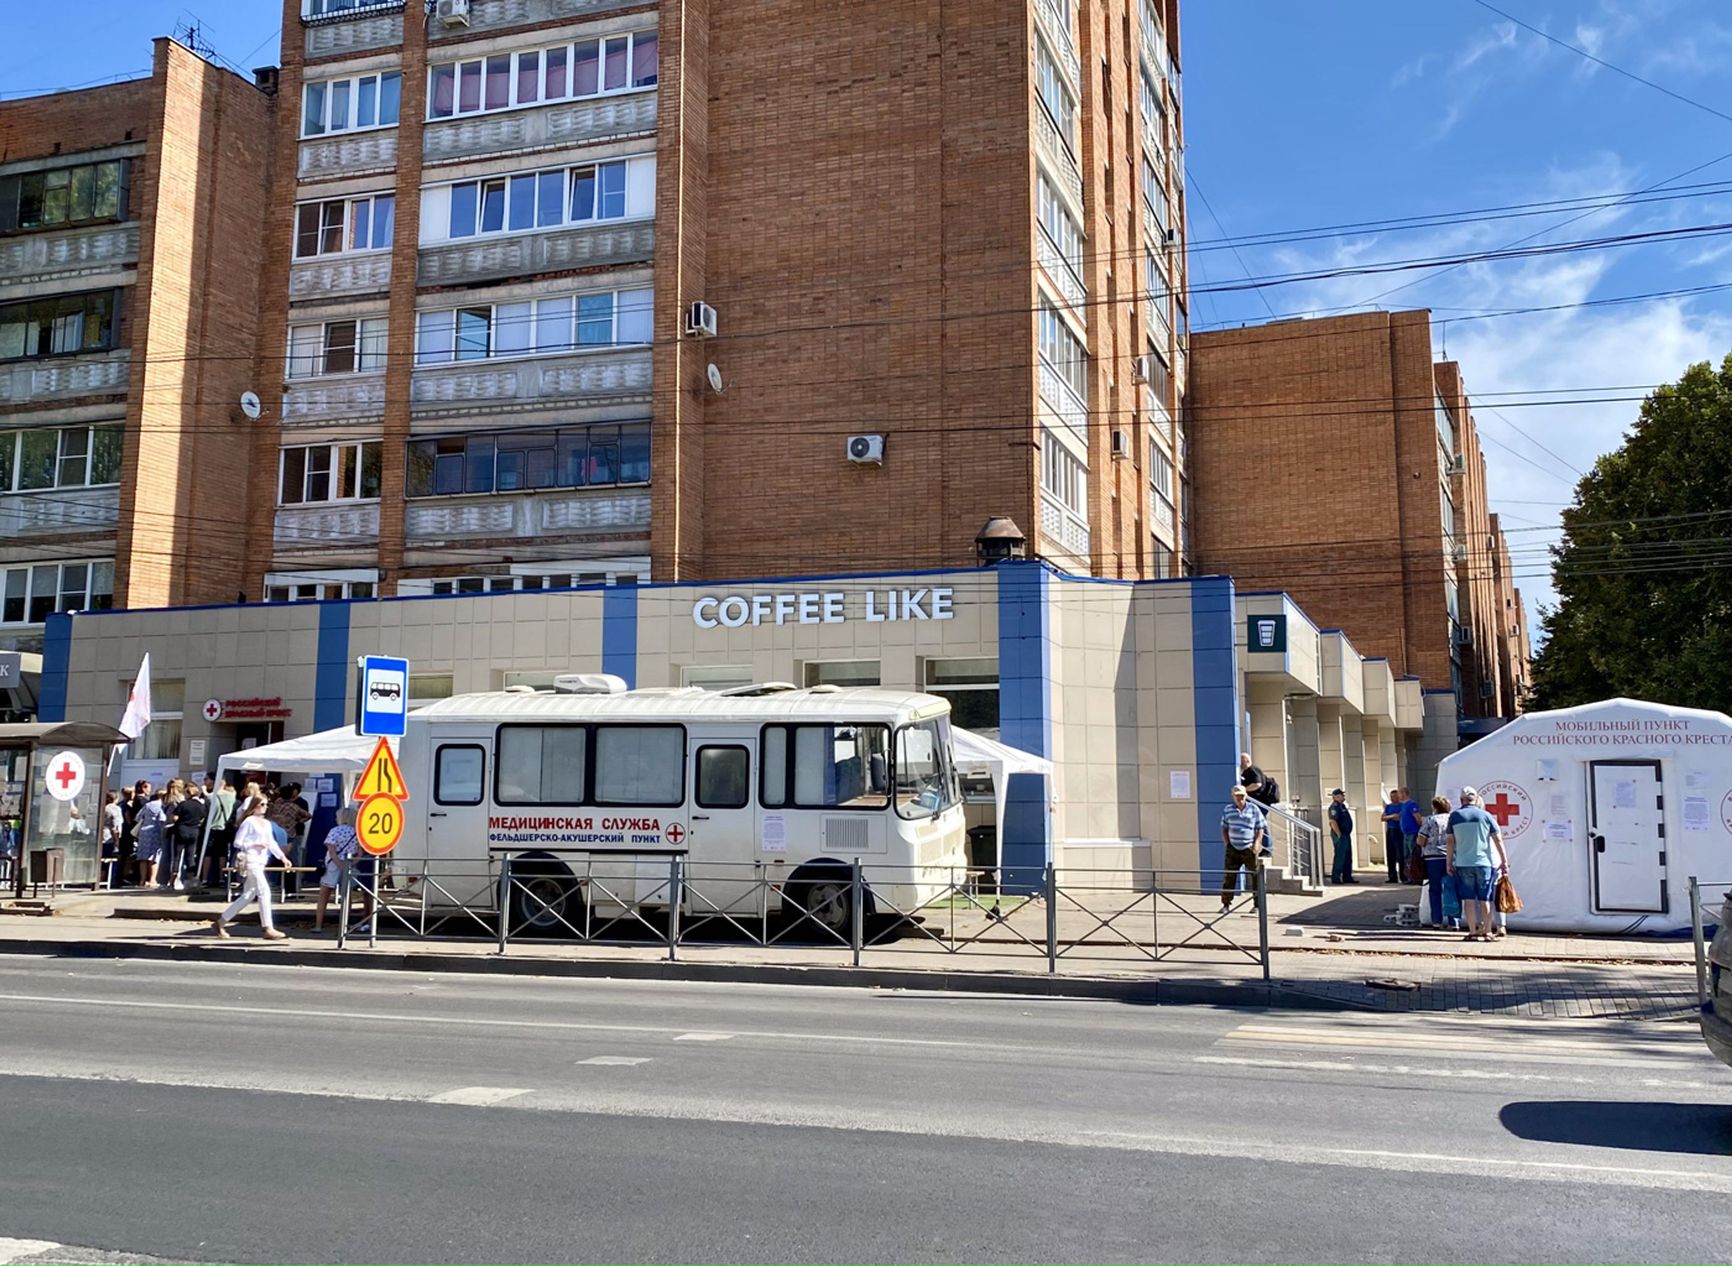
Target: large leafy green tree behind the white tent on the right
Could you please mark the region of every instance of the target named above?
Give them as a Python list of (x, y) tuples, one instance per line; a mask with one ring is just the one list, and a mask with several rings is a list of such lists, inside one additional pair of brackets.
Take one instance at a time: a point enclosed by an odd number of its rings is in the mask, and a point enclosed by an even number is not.
[(1625, 694), (1732, 712), (1732, 355), (1642, 402), (1564, 511), (1531, 708)]

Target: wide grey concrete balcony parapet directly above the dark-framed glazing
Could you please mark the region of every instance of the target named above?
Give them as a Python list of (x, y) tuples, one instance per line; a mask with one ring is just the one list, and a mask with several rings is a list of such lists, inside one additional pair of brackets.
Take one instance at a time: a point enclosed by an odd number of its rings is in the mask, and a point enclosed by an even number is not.
[(497, 414), (558, 404), (650, 400), (650, 348), (584, 352), (533, 360), (494, 360), (417, 369), (409, 388), (416, 417)]

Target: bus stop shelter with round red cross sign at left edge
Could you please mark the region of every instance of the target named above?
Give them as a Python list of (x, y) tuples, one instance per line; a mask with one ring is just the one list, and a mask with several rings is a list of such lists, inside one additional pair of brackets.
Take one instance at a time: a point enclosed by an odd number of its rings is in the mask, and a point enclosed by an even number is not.
[(107, 765), (126, 736), (90, 720), (0, 726), (0, 856), (26, 882), (102, 882)]

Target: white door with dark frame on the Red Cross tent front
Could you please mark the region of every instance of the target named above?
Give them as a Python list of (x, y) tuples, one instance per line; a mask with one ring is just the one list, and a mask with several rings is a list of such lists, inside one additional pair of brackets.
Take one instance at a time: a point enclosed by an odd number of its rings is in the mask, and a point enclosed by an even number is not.
[(1666, 809), (1658, 760), (1588, 765), (1593, 909), (1654, 914), (1666, 909)]

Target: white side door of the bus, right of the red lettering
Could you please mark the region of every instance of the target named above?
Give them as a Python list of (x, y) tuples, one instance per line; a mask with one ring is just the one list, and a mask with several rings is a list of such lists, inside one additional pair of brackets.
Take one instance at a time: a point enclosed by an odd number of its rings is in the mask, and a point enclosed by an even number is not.
[(752, 804), (757, 738), (741, 729), (707, 731), (695, 726), (689, 731), (689, 918), (717, 911), (740, 916), (759, 909), (760, 894), (752, 869), (757, 859), (757, 809)]

